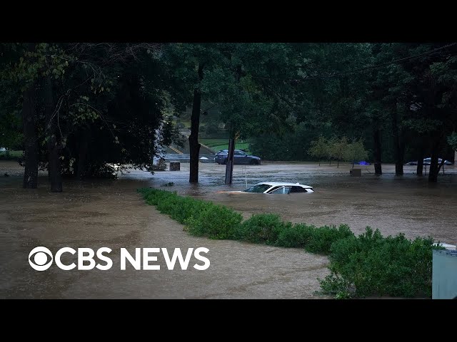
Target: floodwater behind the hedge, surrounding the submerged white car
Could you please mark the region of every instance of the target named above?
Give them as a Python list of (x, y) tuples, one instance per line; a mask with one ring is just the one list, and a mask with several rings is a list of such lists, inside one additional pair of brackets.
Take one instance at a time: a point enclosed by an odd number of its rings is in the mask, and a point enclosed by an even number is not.
[[(150, 186), (208, 199), (238, 210), (244, 217), (261, 212), (280, 214), (294, 223), (348, 224), (362, 233), (367, 226), (384, 235), (403, 232), (406, 237), (431, 235), (441, 242), (457, 244), (457, 167), (446, 166), (438, 183), (417, 177), (415, 166), (405, 166), (405, 175), (395, 176), (394, 165), (383, 165), (383, 175), (374, 175), (373, 166), (361, 166), (362, 177), (349, 174), (351, 165), (311, 163), (271, 163), (235, 165), (233, 185), (224, 185), (224, 165), (200, 165), (199, 185), (189, 185), (189, 164), (180, 172), (156, 172)], [(357, 167), (357, 166), (356, 166)], [(140, 172), (123, 177), (139, 179)], [(149, 176), (148, 176), (149, 177)], [(243, 190), (256, 182), (300, 182), (313, 187), (309, 194), (263, 195), (224, 194), (218, 191)], [(174, 182), (173, 187), (164, 187)]]

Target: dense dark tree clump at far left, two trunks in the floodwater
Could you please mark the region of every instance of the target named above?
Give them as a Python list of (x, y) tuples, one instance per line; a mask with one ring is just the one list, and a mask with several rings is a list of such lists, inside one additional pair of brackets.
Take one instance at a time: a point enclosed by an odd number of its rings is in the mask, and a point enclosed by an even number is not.
[[(1, 86), (15, 84), (24, 94), (25, 186), (36, 187), (38, 162), (49, 170), (51, 191), (61, 191), (60, 171), (112, 175), (111, 163), (151, 170), (170, 84), (159, 46), (37, 43), (9, 50)], [(173, 130), (163, 127), (166, 138)]]

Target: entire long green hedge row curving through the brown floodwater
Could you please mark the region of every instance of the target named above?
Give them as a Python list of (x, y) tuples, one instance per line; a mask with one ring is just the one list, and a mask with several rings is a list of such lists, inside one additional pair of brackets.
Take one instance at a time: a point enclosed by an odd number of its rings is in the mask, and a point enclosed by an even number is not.
[(185, 225), (189, 234), (210, 239), (238, 239), (278, 247), (304, 248), (328, 254), (331, 274), (319, 279), (336, 298), (363, 296), (431, 297), (433, 239), (411, 241), (404, 234), (383, 237), (366, 228), (356, 237), (346, 224), (314, 227), (283, 222), (277, 214), (241, 214), (219, 204), (176, 192), (139, 190), (148, 204)]

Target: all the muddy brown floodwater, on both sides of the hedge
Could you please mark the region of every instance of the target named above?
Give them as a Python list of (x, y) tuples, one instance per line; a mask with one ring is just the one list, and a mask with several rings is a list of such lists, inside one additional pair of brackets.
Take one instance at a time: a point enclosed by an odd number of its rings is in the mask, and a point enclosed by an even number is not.
[[(139, 187), (158, 187), (225, 204), (250, 217), (274, 212), (283, 219), (307, 224), (348, 224), (353, 232), (366, 226), (383, 234), (403, 232), (407, 237), (431, 235), (457, 244), (457, 167), (446, 167), (438, 184), (413, 175), (395, 177), (393, 165), (384, 175), (361, 167), (362, 177), (351, 177), (348, 165), (310, 163), (235, 165), (233, 185), (224, 185), (224, 165), (201, 164), (199, 185), (190, 185), (189, 164), (181, 171), (131, 170), (119, 180), (64, 182), (64, 192), (50, 193), (46, 174), (38, 190), (21, 189), (23, 169), (0, 162), (0, 298), (284, 298), (321, 296), (317, 278), (328, 274), (328, 259), (301, 249), (283, 249), (236, 241), (191, 237), (183, 227), (149, 205), (136, 193)], [(3, 177), (8, 172), (10, 177)], [(224, 194), (263, 180), (301, 182), (313, 186), (310, 194)], [(163, 185), (173, 182), (173, 186)], [(44, 246), (55, 253), (62, 247), (112, 249), (114, 264), (101, 271), (64, 271), (53, 264), (46, 271), (29, 266), (29, 252)], [(139, 247), (206, 247), (211, 266), (198, 271), (189, 266), (166, 269), (120, 269), (120, 249), (134, 255)], [(71, 259), (71, 254), (66, 254)], [(194, 258), (194, 257), (193, 257)], [(76, 261), (76, 257), (72, 259)], [(67, 260), (68, 261), (68, 260)], [(191, 259), (189, 265), (198, 260)], [(69, 261), (71, 263), (71, 261)], [(154, 264), (154, 263), (153, 263)]]

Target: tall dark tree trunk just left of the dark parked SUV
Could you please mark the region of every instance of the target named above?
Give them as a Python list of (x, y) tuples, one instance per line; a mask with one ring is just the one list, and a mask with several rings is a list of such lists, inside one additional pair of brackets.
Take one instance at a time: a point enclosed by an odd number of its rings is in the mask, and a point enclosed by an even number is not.
[[(203, 79), (203, 64), (199, 64), (199, 81)], [(189, 135), (190, 172), (189, 182), (199, 182), (199, 126), (200, 126), (201, 91), (199, 86), (194, 89), (194, 102), (192, 103), (191, 135)]]

